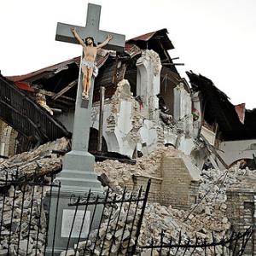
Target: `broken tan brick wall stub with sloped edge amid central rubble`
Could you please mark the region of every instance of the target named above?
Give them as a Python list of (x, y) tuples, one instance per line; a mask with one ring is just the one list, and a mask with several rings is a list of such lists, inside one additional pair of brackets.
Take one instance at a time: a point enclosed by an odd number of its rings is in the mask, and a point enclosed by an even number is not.
[(154, 177), (134, 176), (132, 183), (127, 184), (127, 189), (136, 190), (140, 186), (145, 189), (150, 178), (148, 201), (187, 209), (196, 202), (200, 184), (199, 178), (191, 175), (190, 168), (183, 157), (163, 156), (160, 168)]

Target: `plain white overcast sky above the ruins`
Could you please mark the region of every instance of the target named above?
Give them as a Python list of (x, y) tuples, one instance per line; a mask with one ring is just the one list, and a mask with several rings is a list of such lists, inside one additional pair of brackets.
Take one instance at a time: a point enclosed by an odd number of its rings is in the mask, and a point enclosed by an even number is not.
[(85, 26), (87, 5), (102, 6), (100, 29), (126, 39), (166, 28), (180, 75), (211, 79), (230, 102), (256, 108), (256, 0), (8, 0), (0, 2), (0, 70), (31, 73), (81, 55), (55, 41), (57, 22)]

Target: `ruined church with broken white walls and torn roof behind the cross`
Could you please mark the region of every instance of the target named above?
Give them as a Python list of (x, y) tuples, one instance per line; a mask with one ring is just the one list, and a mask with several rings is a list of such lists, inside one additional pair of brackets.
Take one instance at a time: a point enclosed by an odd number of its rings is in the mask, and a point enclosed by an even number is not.
[[(191, 91), (168, 54), (173, 48), (166, 29), (162, 29), (127, 41), (124, 53), (102, 50), (97, 55), (97, 66), (101, 68), (93, 96), (91, 152), (96, 151), (101, 86), (106, 88), (103, 152), (117, 152), (132, 158), (137, 154), (148, 154), (163, 143), (175, 145), (186, 154), (191, 152)], [(79, 62), (77, 57), (23, 76), (7, 78), (29, 99), (38, 102), (40, 110), (60, 122), (67, 129), (61, 131), (66, 136), (73, 129)], [(8, 117), (4, 120), (11, 123)], [(10, 125), (15, 128), (15, 124)], [(42, 139), (37, 134), (34, 141), (45, 143), (47, 137), (48, 134)]]

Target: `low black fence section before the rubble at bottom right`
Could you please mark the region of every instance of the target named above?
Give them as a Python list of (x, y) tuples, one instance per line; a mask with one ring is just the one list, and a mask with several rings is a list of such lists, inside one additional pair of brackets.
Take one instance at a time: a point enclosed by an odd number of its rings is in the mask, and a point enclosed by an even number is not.
[[(229, 237), (218, 240), (212, 233), (211, 240), (199, 239), (195, 236), (194, 241), (188, 239), (183, 241), (183, 235), (179, 233), (178, 241), (166, 239), (165, 232), (161, 232), (160, 243), (153, 240), (148, 246), (141, 249), (147, 251), (148, 255), (211, 255), (211, 256), (241, 256), (245, 253), (247, 241), (253, 233), (253, 226), (245, 232), (232, 232)], [(251, 254), (252, 255), (252, 254)]]

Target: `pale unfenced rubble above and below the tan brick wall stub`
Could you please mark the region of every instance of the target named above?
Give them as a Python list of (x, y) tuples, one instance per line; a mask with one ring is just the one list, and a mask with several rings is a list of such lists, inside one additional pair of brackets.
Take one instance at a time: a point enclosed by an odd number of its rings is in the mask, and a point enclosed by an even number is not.
[[(166, 148), (160, 148), (148, 157), (138, 159), (136, 166), (106, 160), (96, 163), (96, 172), (99, 173), (102, 170), (112, 180), (113, 186), (123, 187), (133, 174), (155, 175), (162, 154), (170, 154), (170, 156), (180, 154), (175, 149), (166, 152)], [(239, 183), (246, 173), (246, 170), (238, 168), (231, 168), (229, 171), (215, 169), (202, 171), (198, 202), (189, 211), (177, 210), (172, 206), (161, 206), (158, 203), (148, 203), (138, 244), (149, 245), (152, 237), (154, 242), (160, 242), (161, 230), (166, 230), (166, 241), (170, 241), (171, 238), (177, 241), (179, 231), (183, 234), (183, 241), (190, 239), (191, 242), (195, 241), (195, 236), (212, 241), (212, 232), (217, 241), (228, 236), (230, 222), (226, 216), (225, 191), (231, 184)]]

